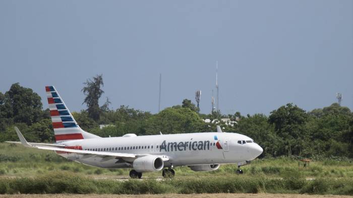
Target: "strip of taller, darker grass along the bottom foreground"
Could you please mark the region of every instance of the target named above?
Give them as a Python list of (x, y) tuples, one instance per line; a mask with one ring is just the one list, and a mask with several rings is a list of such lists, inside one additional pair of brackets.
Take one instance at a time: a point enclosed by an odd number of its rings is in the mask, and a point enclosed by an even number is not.
[(307, 181), (304, 179), (283, 180), (267, 177), (201, 177), (156, 179), (91, 179), (79, 175), (54, 172), (37, 177), (2, 178), (0, 193), (42, 194), (163, 194), (163, 193), (309, 193), (309, 194), (353, 194), (352, 179)]

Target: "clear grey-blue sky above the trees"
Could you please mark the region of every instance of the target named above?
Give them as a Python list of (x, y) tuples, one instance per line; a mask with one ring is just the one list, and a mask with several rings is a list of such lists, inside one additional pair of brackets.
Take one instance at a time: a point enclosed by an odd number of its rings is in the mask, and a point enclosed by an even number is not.
[(0, 1), (0, 91), (54, 85), (71, 111), (103, 75), (111, 108), (269, 115), (287, 103), (353, 110), (353, 1)]

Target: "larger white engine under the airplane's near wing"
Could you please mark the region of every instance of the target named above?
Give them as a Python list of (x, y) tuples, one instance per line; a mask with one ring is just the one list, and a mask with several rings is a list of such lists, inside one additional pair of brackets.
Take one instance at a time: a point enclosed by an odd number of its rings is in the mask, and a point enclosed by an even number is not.
[(133, 167), (137, 172), (150, 172), (162, 170), (164, 162), (162, 158), (153, 155), (139, 157), (134, 160)]

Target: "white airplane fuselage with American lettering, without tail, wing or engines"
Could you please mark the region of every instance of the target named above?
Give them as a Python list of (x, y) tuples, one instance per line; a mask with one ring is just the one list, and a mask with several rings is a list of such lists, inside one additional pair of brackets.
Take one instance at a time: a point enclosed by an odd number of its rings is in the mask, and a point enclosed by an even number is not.
[[(239, 142), (240, 141), (240, 142)], [(112, 153), (149, 154), (169, 158), (164, 167), (251, 161), (262, 148), (237, 133), (187, 133), (112, 137), (61, 142), (68, 148)], [(129, 168), (131, 159), (58, 153), (71, 160), (103, 168)]]

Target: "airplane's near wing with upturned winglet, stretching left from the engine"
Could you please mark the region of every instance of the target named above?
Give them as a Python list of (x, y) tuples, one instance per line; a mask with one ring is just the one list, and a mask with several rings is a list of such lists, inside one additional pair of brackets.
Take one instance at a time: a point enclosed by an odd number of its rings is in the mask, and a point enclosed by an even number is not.
[[(43, 150), (52, 150), (52, 151), (60, 151), (60, 152), (68, 152), (68, 153), (77, 153), (84, 156), (84, 158), (90, 158), (94, 156), (99, 156), (103, 158), (137, 158), (150, 154), (132, 154), (132, 153), (111, 153), (111, 152), (101, 152), (101, 151), (88, 151), (88, 150), (76, 150), (76, 149), (68, 149), (65, 148), (65, 145), (56, 145), (56, 144), (45, 144), (45, 143), (28, 143), (26, 139), (23, 137), (20, 130), (15, 127), (16, 133), (20, 138), (21, 142), (8, 142), (8, 143), (20, 143), (26, 147), (38, 148)], [(64, 147), (64, 148), (63, 148)], [(160, 156), (163, 161), (168, 161), (169, 158), (167, 156)]]

